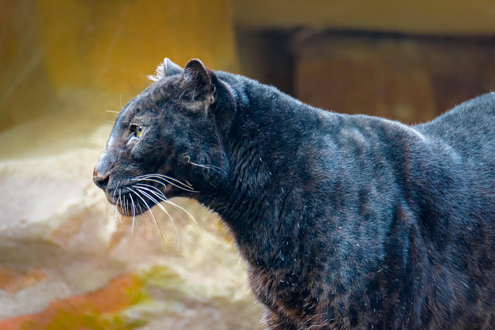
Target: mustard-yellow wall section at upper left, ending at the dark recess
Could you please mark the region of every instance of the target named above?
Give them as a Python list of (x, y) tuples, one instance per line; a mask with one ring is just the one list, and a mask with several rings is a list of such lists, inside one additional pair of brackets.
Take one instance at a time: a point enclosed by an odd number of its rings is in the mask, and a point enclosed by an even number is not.
[(0, 130), (124, 103), (164, 57), (235, 72), (234, 38), (231, 0), (0, 0)]

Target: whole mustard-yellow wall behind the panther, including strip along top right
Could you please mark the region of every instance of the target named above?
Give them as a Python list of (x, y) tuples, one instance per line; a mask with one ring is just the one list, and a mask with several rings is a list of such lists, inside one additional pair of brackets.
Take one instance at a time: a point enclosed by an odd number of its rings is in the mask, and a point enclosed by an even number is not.
[(235, 26), (495, 34), (495, 1), (0, 0), (0, 131), (118, 110), (164, 57), (238, 72)]

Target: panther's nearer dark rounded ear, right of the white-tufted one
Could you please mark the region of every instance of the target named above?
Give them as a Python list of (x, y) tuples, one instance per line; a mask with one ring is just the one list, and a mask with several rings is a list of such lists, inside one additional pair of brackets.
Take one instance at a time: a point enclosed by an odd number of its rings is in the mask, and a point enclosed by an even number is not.
[(206, 101), (208, 105), (216, 100), (215, 73), (208, 69), (200, 60), (193, 58), (184, 67), (183, 86), (189, 91), (193, 100)]

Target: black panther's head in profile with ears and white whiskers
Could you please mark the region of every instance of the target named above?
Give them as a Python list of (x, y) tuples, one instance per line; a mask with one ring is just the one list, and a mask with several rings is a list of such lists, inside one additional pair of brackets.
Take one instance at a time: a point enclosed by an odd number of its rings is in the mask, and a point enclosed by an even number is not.
[(93, 174), (127, 216), (171, 197), (214, 194), (228, 172), (219, 137), (233, 104), (228, 84), (198, 59), (182, 69), (165, 58), (149, 78), (118, 114)]

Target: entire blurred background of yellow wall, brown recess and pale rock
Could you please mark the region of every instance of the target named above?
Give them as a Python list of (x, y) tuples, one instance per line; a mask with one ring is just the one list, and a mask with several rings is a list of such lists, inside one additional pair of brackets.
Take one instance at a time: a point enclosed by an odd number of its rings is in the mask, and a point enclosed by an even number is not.
[(0, 329), (263, 329), (214, 214), (155, 207), (160, 234), (93, 185), (164, 57), (414, 124), (495, 90), (495, 2), (0, 0)]

